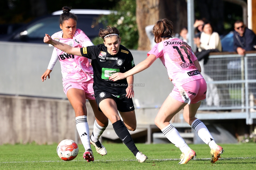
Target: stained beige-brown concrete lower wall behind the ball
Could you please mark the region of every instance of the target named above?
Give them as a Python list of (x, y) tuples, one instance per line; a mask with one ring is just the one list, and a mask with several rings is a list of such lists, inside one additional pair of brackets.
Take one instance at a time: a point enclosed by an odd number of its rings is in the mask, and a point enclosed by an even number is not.
[[(93, 126), (92, 108), (89, 102), (86, 106)], [(75, 114), (68, 100), (0, 95), (0, 117), (0, 145), (75, 138)]]

